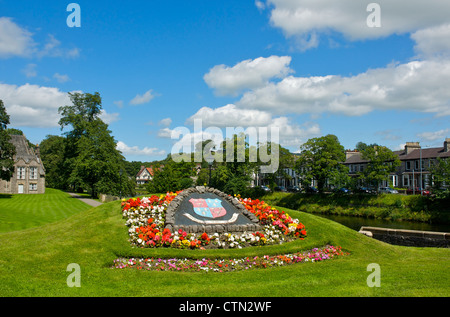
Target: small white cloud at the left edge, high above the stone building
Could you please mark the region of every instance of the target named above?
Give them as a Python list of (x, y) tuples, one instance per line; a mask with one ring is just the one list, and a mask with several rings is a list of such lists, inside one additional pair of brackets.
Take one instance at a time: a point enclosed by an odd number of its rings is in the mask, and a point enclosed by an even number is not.
[(0, 58), (12, 56), (29, 57), (36, 43), (32, 34), (8, 17), (0, 17)]

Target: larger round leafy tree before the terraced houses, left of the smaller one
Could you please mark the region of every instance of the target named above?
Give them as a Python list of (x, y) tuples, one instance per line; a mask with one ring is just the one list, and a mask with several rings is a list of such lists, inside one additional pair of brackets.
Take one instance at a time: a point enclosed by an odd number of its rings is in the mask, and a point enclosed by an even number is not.
[(300, 156), (295, 169), (304, 176), (302, 181), (304, 185), (310, 185), (312, 180), (316, 180), (317, 188), (322, 192), (329, 180), (345, 173), (342, 168), (344, 161), (344, 147), (335, 135), (328, 134), (309, 139), (300, 147)]

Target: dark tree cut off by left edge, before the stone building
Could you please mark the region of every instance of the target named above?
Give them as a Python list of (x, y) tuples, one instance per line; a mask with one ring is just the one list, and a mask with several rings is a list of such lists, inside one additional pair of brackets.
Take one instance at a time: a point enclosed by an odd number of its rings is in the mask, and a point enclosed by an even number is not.
[(7, 131), (9, 115), (6, 113), (3, 101), (0, 100), (0, 179), (9, 181), (14, 173), (16, 148), (9, 141), (11, 137)]

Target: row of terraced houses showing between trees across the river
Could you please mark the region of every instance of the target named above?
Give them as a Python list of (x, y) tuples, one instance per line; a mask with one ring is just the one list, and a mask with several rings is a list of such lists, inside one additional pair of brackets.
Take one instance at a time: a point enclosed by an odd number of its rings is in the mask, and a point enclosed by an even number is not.
[[(442, 147), (422, 148), (419, 142), (406, 142), (404, 148), (394, 151), (401, 164), (394, 173), (389, 175), (387, 181), (379, 184), (380, 187), (392, 186), (398, 188), (428, 188), (431, 186), (430, 167), (438, 158), (450, 158), (450, 138), (446, 138)], [(368, 161), (362, 159), (362, 153), (357, 150), (347, 150), (346, 160), (342, 162), (351, 177), (357, 177), (359, 172), (367, 168)], [(301, 187), (302, 175), (294, 169), (286, 168), (284, 176), (277, 178), (278, 186)], [(264, 175), (255, 178), (254, 185), (266, 185)], [(311, 186), (315, 186), (315, 182)], [(363, 184), (358, 184), (362, 186)]]

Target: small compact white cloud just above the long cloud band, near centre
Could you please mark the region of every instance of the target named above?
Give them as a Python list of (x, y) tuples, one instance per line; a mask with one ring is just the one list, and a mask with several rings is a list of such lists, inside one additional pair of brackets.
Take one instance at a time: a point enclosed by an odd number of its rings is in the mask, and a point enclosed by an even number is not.
[(263, 86), (271, 78), (286, 76), (292, 72), (290, 62), (290, 56), (270, 56), (244, 60), (233, 67), (216, 65), (203, 79), (219, 95), (237, 95), (242, 90)]

